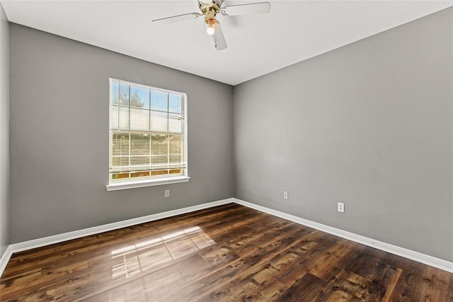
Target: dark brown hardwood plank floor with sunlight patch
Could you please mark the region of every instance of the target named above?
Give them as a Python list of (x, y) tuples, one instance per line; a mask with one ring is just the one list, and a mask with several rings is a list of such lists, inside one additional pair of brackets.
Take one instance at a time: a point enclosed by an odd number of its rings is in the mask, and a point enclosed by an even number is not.
[(453, 274), (236, 204), (18, 252), (1, 301), (453, 301)]

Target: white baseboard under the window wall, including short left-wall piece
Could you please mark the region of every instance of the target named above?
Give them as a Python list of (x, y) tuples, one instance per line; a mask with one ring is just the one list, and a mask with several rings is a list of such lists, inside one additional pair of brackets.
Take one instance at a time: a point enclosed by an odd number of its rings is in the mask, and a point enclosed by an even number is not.
[(138, 225), (140, 223), (147, 223), (150, 221), (159, 220), (162, 218), (168, 218), (171, 216), (177, 216), (180, 214), (190, 213), (190, 212), (202, 210), (205, 208), (221, 206), (222, 204), (232, 203), (233, 201), (234, 201), (233, 198), (226, 198), (226, 199), (222, 199), (219, 201), (212, 201), (209, 203), (198, 204), (196, 206), (188, 206), (187, 208), (178, 208), (178, 209), (172, 210), (172, 211), (166, 211), (166, 212), (162, 212), (162, 213), (151, 214), (148, 216), (142, 216), (142, 217), (132, 218), (132, 219), (128, 219), (128, 220), (122, 220), (122, 221), (118, 221), (116, 223), (98, 225), (93, 228), (85, 228), (83, 230), (75, 230), (75, 231), (69, 232), (69, 233), (63, 233), (63, 234), (58, 234), (58, 235), (52, 235), (49, 237), (38, 238), (35, 240), (28, 240), (28, 241), (24, 241), (24, 242), (13, 243), (12, 245), (8, 245), (6, 252), (4, 252), (4, 255), (0, 259), (0, 276), (1, 276), (1, 274), (3, 274), (6, 264), (8, 263), (9, 259), (11, 258), (11, 255), (13, 255), (14, 252), (22, 252), (25, 250), (34, 249), (36, 247), (44, 247), (46, 245), (53, 245), (55, 243), (72, 240), (72, 239), (76, 239), (76, 238), (80, 238), (80, 237), (84, 237), (84, 236), (88, 236), (88, 235), (94, 235), (94, 234), (98, 234), (98, 233), (108, 232), (110, 230), (117, 230), (119, 228), (127, 228), (132, 225)]

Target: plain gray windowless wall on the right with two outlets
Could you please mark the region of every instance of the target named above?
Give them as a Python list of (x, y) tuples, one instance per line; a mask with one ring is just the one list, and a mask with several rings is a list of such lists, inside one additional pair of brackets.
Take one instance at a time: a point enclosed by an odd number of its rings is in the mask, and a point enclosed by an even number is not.
[(452, 24), (447, 9), (235, 86), (236, 198), (453, 261)]

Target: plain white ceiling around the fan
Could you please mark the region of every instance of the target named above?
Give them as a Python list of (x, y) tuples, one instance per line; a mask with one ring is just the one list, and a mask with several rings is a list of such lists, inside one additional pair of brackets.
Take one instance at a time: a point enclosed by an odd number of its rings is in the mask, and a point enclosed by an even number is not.
[[(229, 1), (225, 5), (259, 2)], [(270, 0), (268, 15), (219, 16), (228, 48), (217, 51), (190, 1), (1, 0), (8, 20), (142, 60), (236, 85), (453, 6), (449, 1)]]

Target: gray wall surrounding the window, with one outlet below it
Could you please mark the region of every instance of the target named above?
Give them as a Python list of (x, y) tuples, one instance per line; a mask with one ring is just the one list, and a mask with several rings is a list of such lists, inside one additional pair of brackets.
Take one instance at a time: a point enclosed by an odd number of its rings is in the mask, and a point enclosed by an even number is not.
[[(11, 243), (234, 196), (231, 86), (10, 29)], [(109, 77), (188, 94), (190, 181), (106, 191)]]

